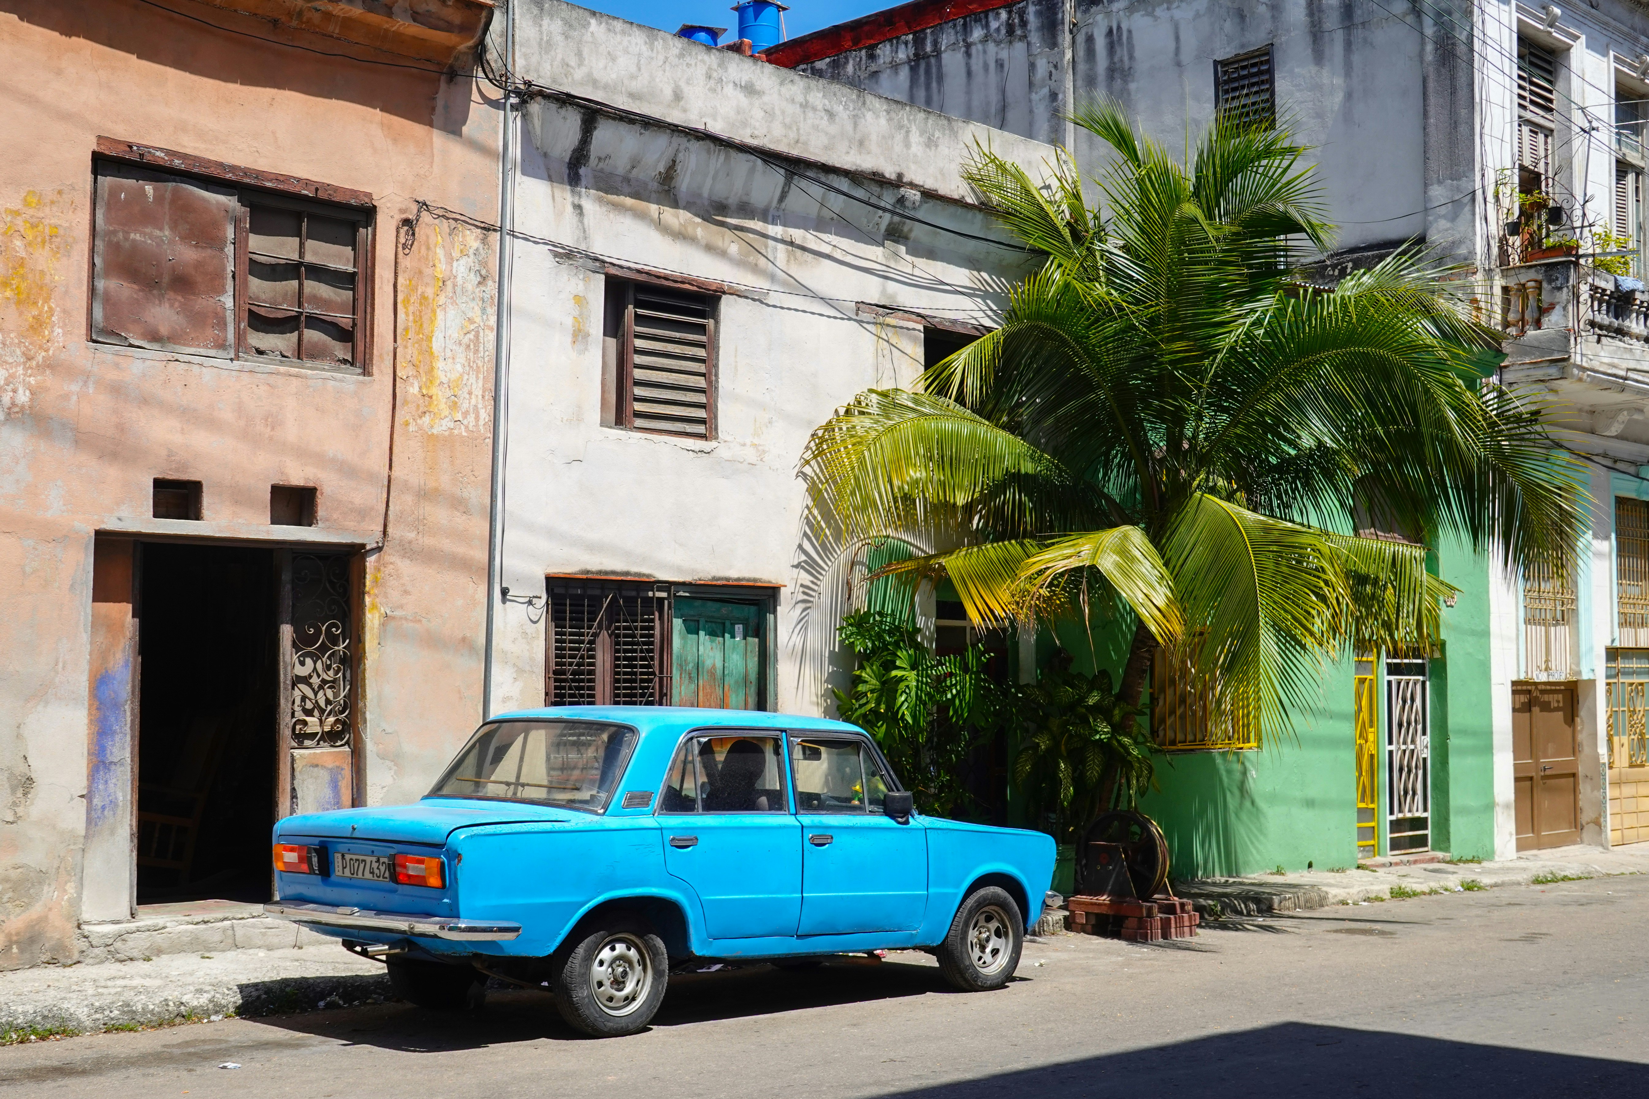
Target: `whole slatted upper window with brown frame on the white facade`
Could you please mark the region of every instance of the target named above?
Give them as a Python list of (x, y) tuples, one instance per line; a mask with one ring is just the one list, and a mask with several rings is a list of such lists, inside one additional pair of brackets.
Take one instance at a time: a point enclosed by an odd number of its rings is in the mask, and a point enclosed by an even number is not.
[(716, 305), (707, 293), (607, 280), (604, 423), (714, 438)]

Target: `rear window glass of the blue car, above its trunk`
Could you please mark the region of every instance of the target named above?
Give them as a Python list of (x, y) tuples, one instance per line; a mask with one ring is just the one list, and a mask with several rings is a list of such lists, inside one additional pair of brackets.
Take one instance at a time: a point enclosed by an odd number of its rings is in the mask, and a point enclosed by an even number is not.
[(600, 812), (635, 745), (635, 730), (605, 722), (482, 725), (427, 797), (534, 801)]

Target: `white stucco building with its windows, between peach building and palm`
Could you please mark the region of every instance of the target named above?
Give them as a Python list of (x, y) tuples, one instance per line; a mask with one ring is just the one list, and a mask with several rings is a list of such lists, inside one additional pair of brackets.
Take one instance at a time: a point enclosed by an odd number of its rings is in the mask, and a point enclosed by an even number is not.
[[(491, 712), (821, 712), (846, 577), (810, 432), (1034, 264), (960, 178), (1044, 145), (552, 0), (518, 3)], [(495, 38), (501, 30), (495, 26)], [(501, 590), (508, 588), (508, 596)]]

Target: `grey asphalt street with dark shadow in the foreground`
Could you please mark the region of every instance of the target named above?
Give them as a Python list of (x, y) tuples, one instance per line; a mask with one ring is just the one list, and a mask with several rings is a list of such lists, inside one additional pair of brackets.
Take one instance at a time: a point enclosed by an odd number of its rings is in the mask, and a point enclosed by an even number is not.
[[(0, 1096), (1649, 1094), (1649, 877), (1273, 916), (1189, 942), (1055, 936), (993, 994), (922, 954), (671, 982), (640, 1035), (533, 992), (0, 1050)], [(239, 1064), (234, 1069), (219, 1064)]]

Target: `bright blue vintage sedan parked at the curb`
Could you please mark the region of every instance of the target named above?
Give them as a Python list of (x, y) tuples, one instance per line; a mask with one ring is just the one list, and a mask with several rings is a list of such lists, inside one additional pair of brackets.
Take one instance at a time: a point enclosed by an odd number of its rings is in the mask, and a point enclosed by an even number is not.
[(569, 1025), (646, 1027), (671, 967), (932, 952), (1008, 982), (1054, 875), (1042, 832), (912, 809), (857, 727), (666, 707), (495, 718), (417, 804), (275, 825), (270, 914), (381, 959), (422, 1007), (486, 977), (549, 987)]

